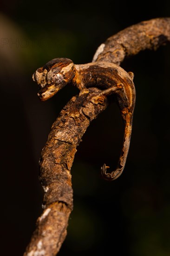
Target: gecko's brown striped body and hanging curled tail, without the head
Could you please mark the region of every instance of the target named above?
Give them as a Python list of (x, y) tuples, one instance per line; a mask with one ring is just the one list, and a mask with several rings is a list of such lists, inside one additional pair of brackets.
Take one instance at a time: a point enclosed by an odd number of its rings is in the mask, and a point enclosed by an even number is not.
[(124, 69), (113, 63), (94, 62), (85, 65), (76, 65), (78, 74), (76, 81), (82, 88), (96, 86), (106, 88), (102, 93), (105, 95), (115, 94), (121, 115), (124, 120), (124, 141), (116, 170), (106, 173), (109, 168), (104, 164), (101, 168), (102, 176), (106, 180), (115, 180), (124, 170), (126, 158), (129, 151), (132, 119), (135, 107), (136, 92), (133, 84), (133, 73), (126, 73)]

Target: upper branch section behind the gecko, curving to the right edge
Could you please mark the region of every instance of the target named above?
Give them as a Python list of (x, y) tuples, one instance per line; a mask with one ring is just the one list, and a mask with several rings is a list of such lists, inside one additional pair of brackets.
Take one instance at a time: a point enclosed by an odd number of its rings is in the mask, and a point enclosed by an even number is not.
[(107, 61), (118, 66), (124, 58), (146, 49), (157, 50), (170, 41), (170, 18), (142, 21), (109, 37), (101, 44), (92, 61)]

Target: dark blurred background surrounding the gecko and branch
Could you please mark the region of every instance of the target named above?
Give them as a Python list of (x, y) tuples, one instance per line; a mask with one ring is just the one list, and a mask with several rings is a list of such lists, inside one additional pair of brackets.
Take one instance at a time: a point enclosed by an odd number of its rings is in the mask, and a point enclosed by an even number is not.
[[(78, 90), (40, 102), (32, 74), (47, 61), (92, 61), (97, 47), (125, 27), (170, 16), (170, 1), (2, 0), (0, 15), (0, 255), (20, 256), (41, 214), (39, 156), (53, 121)], [(135, 74), (137, 102), (124, 173), (116, 167), (123, 123), (116, 104), (94, 120), (72, 166), (74, 209), (59, 256), (170, 255), (170, 45), (124, 61)], [(1, 239), (2, 240), (2, 239)]]

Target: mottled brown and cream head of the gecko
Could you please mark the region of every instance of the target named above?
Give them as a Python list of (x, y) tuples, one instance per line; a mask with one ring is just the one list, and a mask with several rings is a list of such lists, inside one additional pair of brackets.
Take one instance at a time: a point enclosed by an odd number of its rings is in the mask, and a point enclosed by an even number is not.
[(33, 74), (33, 81), (39, 85), (41, 101), (50, 99), (75, 76), (74, 63), (70, 59), (57, 58), (39, 67)]

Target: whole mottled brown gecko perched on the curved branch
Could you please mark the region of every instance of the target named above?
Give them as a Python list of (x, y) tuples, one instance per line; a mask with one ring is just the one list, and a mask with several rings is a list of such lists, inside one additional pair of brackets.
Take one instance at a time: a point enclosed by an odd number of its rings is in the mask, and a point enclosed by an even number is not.
[(135, 107), (135, 87), (133, 73), (109, 62), (93, 62), (74, 65), (66, 58), (53, 59), (33, 74), (33, 80), (40, 86), (39, 98), (45, 101), (56, 94), (67, 83), (72, 82), (80, 93), (89, 93), (87, 88), (103, 89), (103, 94), (115, 94), (124, 120), (124, 142), (118, 166), (115, 171), (106, 173), (106, 165), (101, 168), (102, 176), (107, 180), (118, 178), (123, 172), (131, 139), (132, 118)]

